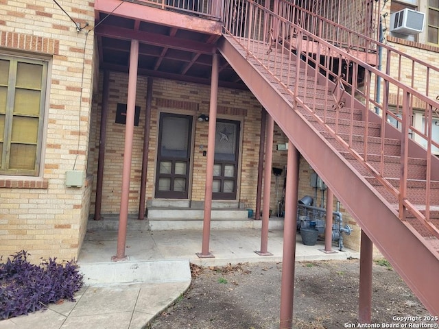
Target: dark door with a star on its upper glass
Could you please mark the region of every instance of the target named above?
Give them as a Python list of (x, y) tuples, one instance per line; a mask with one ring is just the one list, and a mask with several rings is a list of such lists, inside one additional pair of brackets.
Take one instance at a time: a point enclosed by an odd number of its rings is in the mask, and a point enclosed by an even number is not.
[(236, 199), (240, 124), (239, 121), (217, 120), (213, 164), (213, 199)]

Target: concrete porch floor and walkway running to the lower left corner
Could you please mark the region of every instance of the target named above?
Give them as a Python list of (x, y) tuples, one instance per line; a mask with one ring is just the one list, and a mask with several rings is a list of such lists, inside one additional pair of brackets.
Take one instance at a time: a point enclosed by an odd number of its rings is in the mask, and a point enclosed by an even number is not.
[[(297, 261), (359, 257), (357, 252), (349, 249), (338, 251), (336, 245), (333, 245), (333, 250), (337, 252), (327, 254), (320, 250), (324, 248), (324, 241), (308, 246), (301, 243), (300, 234), (297, 239)], [(86, 286), (77, 293), (76, 302), (50, 305), (43, 312), (0, 321), (0, 329), (141, 329), (189, 288), (189, 262), (217, 266), (246, 262), (277, 263), (282, 259), (282, 230), (270, 230), (268, 252), (272, 256), (254, 253), (260, 249), (260, 230), (212, 230), (210, 241), (210, 251), (215, 258), (198, 258), (195, 253), (201, 252), (200, 230), (129, 231), (126, 243), (128, 260), (116, 264), (124, 263), (130, 269), (142, 269), (142, 265), (148, 262), (176, 260), (185, 262), (187, 269), (182, 269), (182, 276), (174, 282), (171, 278), (165, 278), (165, 282), (141, 282), (141, 277), (136, 275), (122, 280), (126, 282), (124, 284), (117, 283), (117, 280), (95, 284), (100, 278), (109, 280), (110, 276), (114, 276), (108, 274), (108, 266), (115, 264), (110, 262), (110, 258), (116, 252), (117, 232), (88, 232), (78, 259), (81, 269), (86, 271)], [(119, 276), (119, 279), (124, 276)]]

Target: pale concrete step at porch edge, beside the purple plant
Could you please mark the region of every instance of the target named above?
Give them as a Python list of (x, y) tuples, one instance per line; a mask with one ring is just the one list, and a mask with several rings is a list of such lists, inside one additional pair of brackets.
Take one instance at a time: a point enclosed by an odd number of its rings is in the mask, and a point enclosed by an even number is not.
[(107, 263), (81, 263), (85, 284), (161, 283), (191, 281), (188, 260), (119, 260)]

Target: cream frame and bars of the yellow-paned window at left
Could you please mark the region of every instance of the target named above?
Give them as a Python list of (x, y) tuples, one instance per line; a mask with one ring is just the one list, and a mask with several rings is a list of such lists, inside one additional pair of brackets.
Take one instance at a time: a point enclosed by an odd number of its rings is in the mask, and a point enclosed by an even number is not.
[[(44, 135), (44, 124), (45, 124), (45, 106), (47, 102), (47, 90), (48, 85), (48, 75), (49, 75), (49, 60), (43, 58), (28, 58), (24, 56), (16, 56), (14, 54), (0, 53), (0, 60), (9, 61), (9, 75), (7, 84), (1, 84), (0, 86), (5, 86), (6, 91), (6, 108), (5, 108), (5, 123), (4, 123), (4, 133), (3, 133), (3, 153), (0, 161), (0, 175), (16, 175), (16, 176), (33, 176), (37, 177), (40, 175), (40, 166), (42, 159), (42, 149), (43, 149), (43, 135)], [(41, 82), (40, 88), (25, 88), (27, 90), (39, 90), (40, 91), (40, 102), (38, 116), (38, 128), (36, 136), (36, 154), (34, 169), (10, 169), (10, 145), (12, 143), (12, 117), (14, 117), (14, 99), (16, 95), (16, 76), (17, 68), (19, 62), (25, 64), (37, 64), (41, 65)], [(23, 117), (32, 118), (32, 115), (24, 115)]]

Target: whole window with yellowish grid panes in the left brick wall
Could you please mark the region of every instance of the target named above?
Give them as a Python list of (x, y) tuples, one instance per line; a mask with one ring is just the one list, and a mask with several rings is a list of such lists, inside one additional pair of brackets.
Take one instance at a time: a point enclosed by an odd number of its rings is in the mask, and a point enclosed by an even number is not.
[(0, 175), (38, 175), (47, 62), (0, 55)]

